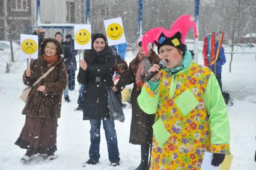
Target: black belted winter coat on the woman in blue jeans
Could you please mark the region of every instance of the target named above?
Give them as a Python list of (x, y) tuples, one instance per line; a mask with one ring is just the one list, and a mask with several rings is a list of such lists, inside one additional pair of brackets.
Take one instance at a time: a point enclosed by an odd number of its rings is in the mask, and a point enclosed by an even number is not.
[[(108, 94), (106, 87), (114, 86), (112, 76), (115, 71), (115, 56), (112, 49), (106, 46), (101, 52), (95, 50), (85, 50), (84, 59), (87, 62), (87, 70), (80, 67), (78, 82), (86, 83), (84, 101), (84, 120), (101, 120), (109, 117)], [(118, 82), (117, 87), (120, 93), (123, 89), (122, 81)]]

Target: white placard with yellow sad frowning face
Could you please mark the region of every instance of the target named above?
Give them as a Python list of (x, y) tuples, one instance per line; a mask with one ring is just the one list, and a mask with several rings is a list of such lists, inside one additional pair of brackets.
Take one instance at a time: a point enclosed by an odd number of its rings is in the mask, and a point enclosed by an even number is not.
[(38, 35), (20, 34), (20, 57), (38, 58)]

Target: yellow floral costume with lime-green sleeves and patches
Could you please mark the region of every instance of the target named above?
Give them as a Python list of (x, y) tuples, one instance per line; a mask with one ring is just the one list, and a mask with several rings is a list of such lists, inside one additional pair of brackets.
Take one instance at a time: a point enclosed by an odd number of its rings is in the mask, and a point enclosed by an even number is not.
[(205, 151), (230, 154), (227, 109), (212, 71), (191, 62), (178, 73), (160, 73), (137, 99), (145, 113), (156, 113), (150, 169), (196, 170)]

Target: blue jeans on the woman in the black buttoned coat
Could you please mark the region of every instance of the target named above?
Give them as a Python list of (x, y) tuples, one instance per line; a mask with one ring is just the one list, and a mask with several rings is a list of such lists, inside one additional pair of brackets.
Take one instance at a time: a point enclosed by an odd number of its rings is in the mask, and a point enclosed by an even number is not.
[(117, 146), (117, 133), (115, 132), (114, 120), (90, 120), (91, 124), (91, 145), (89, 150), (90, 159), (99, 162), (100, 159), (100, 126), (103, 121), (103, 129), (105, 130), (106, 141), (108, 144), (108, 159), (112, 162), (119, 162), (119, 151)]

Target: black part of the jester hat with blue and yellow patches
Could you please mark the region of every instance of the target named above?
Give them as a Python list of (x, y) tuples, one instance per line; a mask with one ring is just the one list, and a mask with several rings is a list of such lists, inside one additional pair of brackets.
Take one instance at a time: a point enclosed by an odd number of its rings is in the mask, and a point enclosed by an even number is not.
[(183, 51), (183, 55), (185, 54), (185, 52), (187, 50), (187, 46), (185, 44), (181, 43), (180, 32), (177, 32), (172, 37), (166, 37), (165, 34), (163, 34), (163, 32), (162, 32), (162, 34), (159, 36), (158, 42), (155, 41), (155, 43), (157, 45), (158, 53), (159, 53), (160, 47), (162, 47), (163, 45), (169, 45), (169, 46), (173, 46), (178, 49), (181, 49)]

